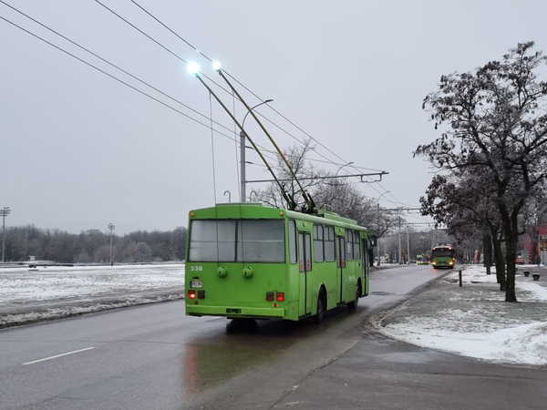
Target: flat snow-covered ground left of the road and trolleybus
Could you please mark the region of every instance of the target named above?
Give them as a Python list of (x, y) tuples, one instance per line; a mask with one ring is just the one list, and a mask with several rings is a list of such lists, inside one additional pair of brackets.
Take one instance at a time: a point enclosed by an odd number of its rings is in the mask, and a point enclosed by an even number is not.
[(184, 296), (184, 264), (0, 268), (0, 327)]

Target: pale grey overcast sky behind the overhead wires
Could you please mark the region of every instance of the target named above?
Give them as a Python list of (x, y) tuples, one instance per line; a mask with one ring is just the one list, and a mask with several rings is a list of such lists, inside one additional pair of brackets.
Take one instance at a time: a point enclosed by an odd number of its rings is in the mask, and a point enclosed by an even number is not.
[[(386, 171), (381, 183), (351, 180), (370, 198), (388, 190), (384, 207), (418, 208), (432, 174), (412, 152), (438, 137), (421, 103), (440, 76), (501, 59), (526, 41), (547, 51), (541, 0), (101, 3), (119, 16), (93, 0), (0, 2), (2, 18), (150, 96), (0, 19), (0, 208), (12, 210), (6, 226), (77, 233), (107, 231), (112, 222), (120, 234), (167, 231), (186, 226), (191, 209), (238, 200), (232, 120), (210, 104), (186, 62), (200, 64), (204, 81), (240, 121), (245, 111), (212, 82), (226, 87), (204, 56), (222, 62), (249, 105), (274, 99), (274, 109), (256, 111), (280, 148), (314, 138), (315, 166), (335, 173), (353, 162), (339, 175)], [(212, 133), (211, 117), (228, 129), (214, 125), (222, 134)], [(274, 150), (251, 116), (245, 128)], [(261, 164), (250, 149), (247, 160)], [(247, 179), (271, 176), (263, 165), (248, 165)], [(247, 193), (261, 188), (249, 183)]]

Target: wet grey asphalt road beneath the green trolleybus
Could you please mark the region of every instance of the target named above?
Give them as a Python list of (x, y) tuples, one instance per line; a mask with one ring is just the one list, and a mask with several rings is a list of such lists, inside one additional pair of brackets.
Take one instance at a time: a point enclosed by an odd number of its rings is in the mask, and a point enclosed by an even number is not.
[(527, 406), (513, 408), (545, 408), (533, 401), (547, 403), (544, 369), (483, 364), (368, 333), (367, 315), (442, 273), (373, 272), (373, 294), (357, 311), (341, 306), (320, 326), (235, 329), (222, 318), (186, 317), (177, 301), (6, 329), (0, 409), (494, 408), (473, 405), (482, 403), (477, 389), (514, 392)]

